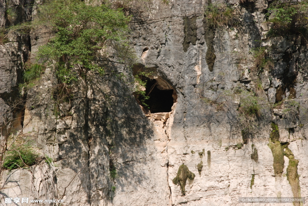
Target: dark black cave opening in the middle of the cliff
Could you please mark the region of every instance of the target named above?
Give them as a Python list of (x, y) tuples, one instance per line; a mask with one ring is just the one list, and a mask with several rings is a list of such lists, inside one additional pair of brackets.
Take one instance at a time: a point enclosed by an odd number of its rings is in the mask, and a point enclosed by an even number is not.
[(156, 79), (147, 79), (145, 94), (148, 99), (144, 103), (148, 105), (150, 113), (171, 112), (175, 103), (173, 93), (173, 89), (164, 88)]

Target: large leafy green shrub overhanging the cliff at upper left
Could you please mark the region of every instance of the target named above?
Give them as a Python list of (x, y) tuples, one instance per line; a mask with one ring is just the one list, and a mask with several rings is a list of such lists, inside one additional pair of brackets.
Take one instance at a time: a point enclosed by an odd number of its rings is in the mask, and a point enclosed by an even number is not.
[[(39, 21), (55, 36), (39, 47), (37, 59), (54, 60), (60, 83), (70, 83), (89, 71), (104, 72), (112, 49), (128, 48), (124, 40), (129, 17), (105, 4), (93, 6), (79, 0), (54, 0), (40, 9)], [(123, 47), (121, 47), (123, 46)], [(109, 51), (109, 52), (108, 52)], [(123, 52), (122, 58), (130, 54)]]

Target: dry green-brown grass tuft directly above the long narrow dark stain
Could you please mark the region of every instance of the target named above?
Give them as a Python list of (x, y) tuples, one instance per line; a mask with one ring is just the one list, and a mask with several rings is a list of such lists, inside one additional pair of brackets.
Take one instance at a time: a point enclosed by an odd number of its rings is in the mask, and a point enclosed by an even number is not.
[(230, 6), (209, 4), (205, 7), (205, 18), (208, 21), (208, 26), (216, 28), (223, 25), (232, 25), (233, 11), (234, 9)]

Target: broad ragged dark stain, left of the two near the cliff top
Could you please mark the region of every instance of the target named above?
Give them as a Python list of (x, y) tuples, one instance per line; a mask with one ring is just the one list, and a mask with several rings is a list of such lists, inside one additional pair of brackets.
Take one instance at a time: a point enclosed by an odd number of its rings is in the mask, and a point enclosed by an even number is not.
[(190, 45), (196, 45), (197, 40), (197, 26), (196, 20), (197, 17), (193, 16), (191, 18), (183, 17), (184, 20), (184, 42), (183, 42), (183, 50), (187, 52), (187, 49)]

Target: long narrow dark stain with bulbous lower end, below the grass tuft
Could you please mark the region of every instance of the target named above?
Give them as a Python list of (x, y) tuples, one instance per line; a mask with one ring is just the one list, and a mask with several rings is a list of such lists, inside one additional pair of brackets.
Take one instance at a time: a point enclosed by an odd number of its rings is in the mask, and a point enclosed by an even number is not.
[(213, 46), (214, 28), (209, 27), (209, 24), (206, 18), (203, 19), (203, 28), (204, 28), (204, 38), (205, 38), (206, 46), (208, 47), (205, 53), (205, 61), (208, 64), (209, 71), (213, 71), (214, 63), (216, 59), (215, 49)]

